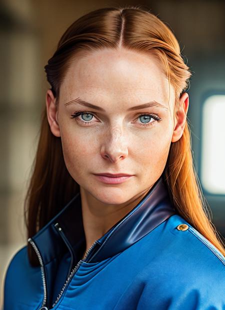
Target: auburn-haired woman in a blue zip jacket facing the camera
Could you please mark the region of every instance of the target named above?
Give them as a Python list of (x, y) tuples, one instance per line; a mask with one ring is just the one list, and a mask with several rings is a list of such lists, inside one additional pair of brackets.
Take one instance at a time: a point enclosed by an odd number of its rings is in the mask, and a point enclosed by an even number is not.
[(45, 66), (28, 244), (4, 310), (225, 307), (225, 250), (192, 165), (190, 71), (158, 18), (75, 21)]

